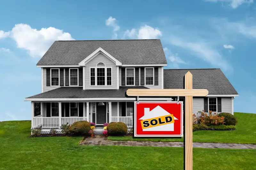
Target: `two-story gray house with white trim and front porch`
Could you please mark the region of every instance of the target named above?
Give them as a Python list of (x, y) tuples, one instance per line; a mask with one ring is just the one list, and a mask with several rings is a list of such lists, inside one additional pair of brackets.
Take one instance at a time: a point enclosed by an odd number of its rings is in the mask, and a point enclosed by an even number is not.
[[(81, 120), (132, 127), (136, 98), (126, 91), (184, 88), (188, 71), (194, 89), (209, 91), (206, 97), (193, 98), (194, 113), (233, 114), (238, 96), (220, 69), (164, 70), (167, 60), (160, 40), (55, 41), (36, 65), (42, 69), (42, 93), (25, 100), (31, 101), (31, 128), (42, 125), (43, 133)], [(177, 96), (141, 100), (175, 101)], [(41, 102), (41, 115), (34, 116), (34, 102)]]

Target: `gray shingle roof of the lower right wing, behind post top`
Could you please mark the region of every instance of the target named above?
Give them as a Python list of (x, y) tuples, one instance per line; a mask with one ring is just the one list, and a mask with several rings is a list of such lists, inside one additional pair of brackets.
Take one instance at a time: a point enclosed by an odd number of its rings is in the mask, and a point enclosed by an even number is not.
[(193, 75), (193, 89), (207, 89), (209, 95), (238, 94), (220, 69), (165, 69), (164, 89), (183, 89), (188, 71)]

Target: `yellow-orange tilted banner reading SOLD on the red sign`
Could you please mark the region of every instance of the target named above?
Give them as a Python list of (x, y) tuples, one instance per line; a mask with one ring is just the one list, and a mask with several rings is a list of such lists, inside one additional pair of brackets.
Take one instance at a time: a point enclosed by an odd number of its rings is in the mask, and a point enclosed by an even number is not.
[(152, 128), (156, 126), (161, 126), (169, 123), (174, 123), (173, 115), (165, 115), (161, 117), (155, 117), (151, 119), (146, 119), (140, 121), (142, 129)]

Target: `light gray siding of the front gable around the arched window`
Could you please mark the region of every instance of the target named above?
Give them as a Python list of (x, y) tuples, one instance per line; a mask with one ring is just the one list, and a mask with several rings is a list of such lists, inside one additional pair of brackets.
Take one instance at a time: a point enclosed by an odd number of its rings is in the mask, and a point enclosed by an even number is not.
[[(90, 67), (96, 67), (96, 65), (102, 62), (106, 65), (106, 67), (112, 67), (112, 85), (90, 85)], [(84, 78), (85, 78), (85, 89), (117, 89), (117, 69), (116, 63), (111, 61), (108, 57), (103, 54), (98, 54), (91, 61), (85, 64), (84, 70)], [(97, 69), (95, 69), (95, 75), (97, 74)], [(105, 73), (107, 74), (107, 73)], [(95, 81), (97, 81), (95, 76)], [(107, 82), (106, 82), (107, 83)], [(96, 82), (95, 82), (96, 84)]]

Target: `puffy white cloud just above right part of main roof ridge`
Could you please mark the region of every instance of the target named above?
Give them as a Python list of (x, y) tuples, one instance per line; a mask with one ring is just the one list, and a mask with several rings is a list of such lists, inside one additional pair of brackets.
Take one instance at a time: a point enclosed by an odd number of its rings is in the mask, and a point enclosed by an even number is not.
[(126, 30), (124, 38), (137, 38), (137, 39), (157, 39), (162, 36), (162, 32), (158, 28), (145, 25), (141, 26), (140, 29), (132, 28), (132, 30)]

